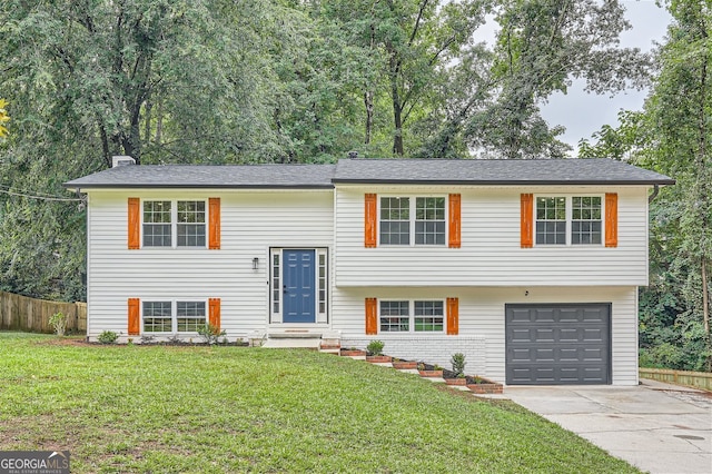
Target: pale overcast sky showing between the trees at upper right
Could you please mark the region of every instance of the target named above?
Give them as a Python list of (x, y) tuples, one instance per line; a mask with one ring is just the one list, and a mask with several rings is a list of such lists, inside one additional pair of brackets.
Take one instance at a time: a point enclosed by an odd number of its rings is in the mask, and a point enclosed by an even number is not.
[[(654, 42), (663, 42), (671, 19), (665, 9), (657, 7), (653, 0), (630, 0), (621, 3), (633, 27), (621, 34), (622, 47), (637, 47), (643, 51), (650, 51)], [(542, 116), (551, 126), (566, 127), (566, 132), (560, 136), (560, 139), (574, 147), (574, 155), (580, 139), (590, 139), (603, 125), (616, 126), (620, 110), (642, 109), (647, 96), (647, 90), (632, 89), (611, 98), (610, 95), (586, 93), (583, 86), (584, 81), (574, 82), (567, 95), (556, 92), (552, 95), (548, 103), (542, 107)]]

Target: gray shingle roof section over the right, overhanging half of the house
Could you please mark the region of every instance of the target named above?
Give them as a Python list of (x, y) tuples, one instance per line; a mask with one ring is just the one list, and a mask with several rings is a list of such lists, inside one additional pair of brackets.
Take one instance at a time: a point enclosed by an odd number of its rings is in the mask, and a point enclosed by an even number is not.
[(349, 159), (334, 182), (472, 185), (672, 185), (673, 179), (607, 158), (542, 160)]

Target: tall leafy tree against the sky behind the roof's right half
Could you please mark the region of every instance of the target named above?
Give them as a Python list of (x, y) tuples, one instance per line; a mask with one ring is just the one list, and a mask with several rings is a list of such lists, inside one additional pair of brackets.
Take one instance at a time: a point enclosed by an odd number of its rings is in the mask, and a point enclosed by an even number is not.
[(483, 155), (563, 157), (570, 147), (556, 137), (564, 128), (550, 127), (540, 113), (553, 92), (566, 92), (573, 79), (584, 79), (596, 93), (644, 85), (645, 55), (619, 47), (630, 24), (617, 1), (508, 0), (497, 2), (495, 12), (501, 30), (488, 73), (494, 93), (481, 103), (464, 102), (448, 122), (451, 134)]

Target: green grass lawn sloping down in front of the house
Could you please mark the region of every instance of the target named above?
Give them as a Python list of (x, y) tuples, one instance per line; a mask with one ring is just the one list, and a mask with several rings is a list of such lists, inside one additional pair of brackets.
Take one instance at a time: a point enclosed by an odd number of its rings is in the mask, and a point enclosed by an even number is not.
[(0, 451), (85, 472), (636, 472), (508, 402), (306, 350), (0, 333)]

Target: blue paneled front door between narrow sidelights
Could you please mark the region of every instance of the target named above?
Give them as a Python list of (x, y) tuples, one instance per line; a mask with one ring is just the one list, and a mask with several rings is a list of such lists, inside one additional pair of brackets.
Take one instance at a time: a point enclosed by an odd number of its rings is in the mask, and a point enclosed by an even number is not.
[(283, 250), (284, 323), (315, 323), (315, 250)]

